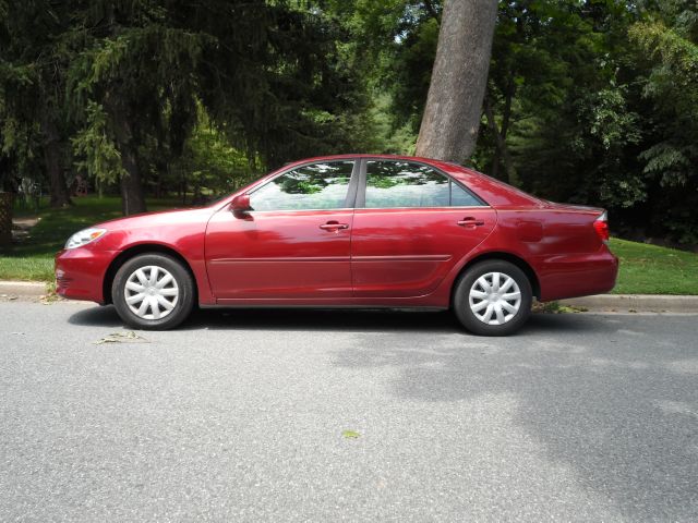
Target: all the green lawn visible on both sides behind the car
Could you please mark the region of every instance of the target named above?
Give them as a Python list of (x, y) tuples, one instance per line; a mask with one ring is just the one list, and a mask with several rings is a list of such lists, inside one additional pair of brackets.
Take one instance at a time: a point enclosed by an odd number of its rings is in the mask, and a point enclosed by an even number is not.
[[(93, 223), (119, 218), (118, 197), (74, 198), (67, 209), (39, 211), (40, 221), (21, 245), (0, 253), (0, 280), (52, 281), (53, 255), (65, 240)], [(177, 207), (174, 199), (148, 200), (149, 210)], [(698, 294), (698, 255), (625, 240), (611, 240), (621, 258), (616, 294)]]

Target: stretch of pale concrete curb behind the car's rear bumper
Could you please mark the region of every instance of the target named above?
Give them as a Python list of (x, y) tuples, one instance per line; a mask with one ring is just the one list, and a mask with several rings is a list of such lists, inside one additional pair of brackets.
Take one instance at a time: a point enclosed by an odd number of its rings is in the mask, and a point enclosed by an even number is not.
[(598, 294), (559, 300), (561, 305), (589, 311), (628, 311), (638, 313), (698, 313), (698, 296), (661, 294)]

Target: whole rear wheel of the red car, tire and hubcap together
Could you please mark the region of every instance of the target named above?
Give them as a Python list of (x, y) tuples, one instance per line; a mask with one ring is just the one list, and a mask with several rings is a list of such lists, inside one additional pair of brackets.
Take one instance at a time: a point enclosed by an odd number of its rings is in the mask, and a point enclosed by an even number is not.
[(531, 282), (508, 262), (492, 259), (469, 268), (456, 282), (454, 311), (462, 326), (480, 336), (508, 336), (531, 313)]

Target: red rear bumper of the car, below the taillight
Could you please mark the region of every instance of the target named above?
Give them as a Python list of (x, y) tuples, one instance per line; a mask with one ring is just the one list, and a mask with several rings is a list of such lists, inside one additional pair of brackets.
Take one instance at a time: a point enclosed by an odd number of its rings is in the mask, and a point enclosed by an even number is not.
[(541, 302), (604, 294), (615, 287), (618, 258), (604, 245), (598, 253), (539, 259)]

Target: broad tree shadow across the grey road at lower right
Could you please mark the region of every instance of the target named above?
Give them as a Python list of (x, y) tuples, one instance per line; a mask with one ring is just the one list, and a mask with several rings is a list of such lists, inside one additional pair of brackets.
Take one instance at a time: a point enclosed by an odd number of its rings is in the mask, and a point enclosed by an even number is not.
[(698, 521), (698, 348), (673, 321), (534, 315), (520, 336), (431, 345), (359, 335), (334, 363), (392, 368), (388, 389), (411, 402), (498, 398), (519, 438), (623, 519)]

